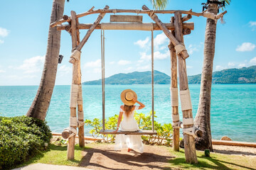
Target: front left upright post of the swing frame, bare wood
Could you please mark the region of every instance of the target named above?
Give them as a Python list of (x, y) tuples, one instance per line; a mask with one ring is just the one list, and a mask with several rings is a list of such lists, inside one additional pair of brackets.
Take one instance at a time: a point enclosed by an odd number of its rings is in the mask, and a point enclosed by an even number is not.
[[(76, 13), (75, 11), (71, 11), (71, 38), (72, 38), (72, 49), (77, 47), (77, 31), (76, 31), (76, 21), (75, 21)], [(79, 59), (80, 60), (80, 59)], [(78, 61), (79, 61), (78, 60)], [(72, 84), (79, 84), (79, 62), (75, 61), (73, 64), (73, 74), (72, 74)], [(70, 107), (70, 117), (76, 117), (76, 107)], [(71, 126), (72, 128), (77, 128), (76, 126)], [(75, 154), (75, 136), (68, 138), (68, 159), (74, 159)]]

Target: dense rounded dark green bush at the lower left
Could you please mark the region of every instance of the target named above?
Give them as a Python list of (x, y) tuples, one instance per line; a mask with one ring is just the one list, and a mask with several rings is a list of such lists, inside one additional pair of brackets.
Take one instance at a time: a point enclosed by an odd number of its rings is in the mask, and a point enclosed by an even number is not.
[(51, 137), (50, 128), (41, 120), (24, 115), (0, 117), (0, 167), (18, 164), (46, 149)]

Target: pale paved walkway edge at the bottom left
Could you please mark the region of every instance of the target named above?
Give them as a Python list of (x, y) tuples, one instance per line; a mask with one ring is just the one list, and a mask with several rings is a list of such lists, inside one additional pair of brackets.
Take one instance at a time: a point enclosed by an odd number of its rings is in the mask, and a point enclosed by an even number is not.
[(18, 169), (12, 170), (92, 170), (87, 168), (82, 168), (78, 166), (64, 166), (64, 165), (52, 165), (52, 164), (30, 164), (28, 166), (23, 166)]

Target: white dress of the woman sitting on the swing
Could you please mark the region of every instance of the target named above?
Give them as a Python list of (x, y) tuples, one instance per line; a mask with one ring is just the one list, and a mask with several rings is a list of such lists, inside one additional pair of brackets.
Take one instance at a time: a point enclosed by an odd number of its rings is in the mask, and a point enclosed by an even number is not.
[[(134, 111), (138, 110), (139, 106), (135, 106)], [(134, 111), (127, 115), (124, 113), (122, 108), (120, 107), (120, 112), (123, 113), (123, 120), (120, 123), (120, 130), (122, 131), (137, 131), (139, 130), (139, 125), (134, 119)], [(116, 135), (115, 138), (115, 150), (120, 150), (122, 148), (131, 148), (137, 150), (139, 152), (143, 152), (143, 143), (141, 135)]]

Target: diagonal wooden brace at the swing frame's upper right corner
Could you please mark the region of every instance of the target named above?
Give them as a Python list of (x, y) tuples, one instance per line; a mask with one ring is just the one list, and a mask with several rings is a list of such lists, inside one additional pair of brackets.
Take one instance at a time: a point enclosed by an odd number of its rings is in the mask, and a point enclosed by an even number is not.
[[(145, 5), (142, 6), (143, 10), (149, 10), (148, 7), (146, 7)], [(171, 42), (174, 44), (174, 46), (180, 44), (180, 42), (178, 40), (176, 40), (176, 38), (174, 38), (174, 35), (172, 35), (170, 33), (170, 31), (166, 28), (166, 26), (164, 26), (164, 23), (162, 23), (159, 18), (156, 16), (156, 14), (154, 13), (149, 13), (150, 18), (156, 22), (156, 24), (161, 28), (161, 30), (163, 30), (163, 32), (165, 33), (165, 35), (171, 40)], [(181, 23), (181, 30), (183, 30), (182, 27), (182, 23)], [(185, 60), (186, 58), (189, 57), (188, 52), (186, 50), (181, 51), (181, 56), (183, 57), (183, 59)]]

